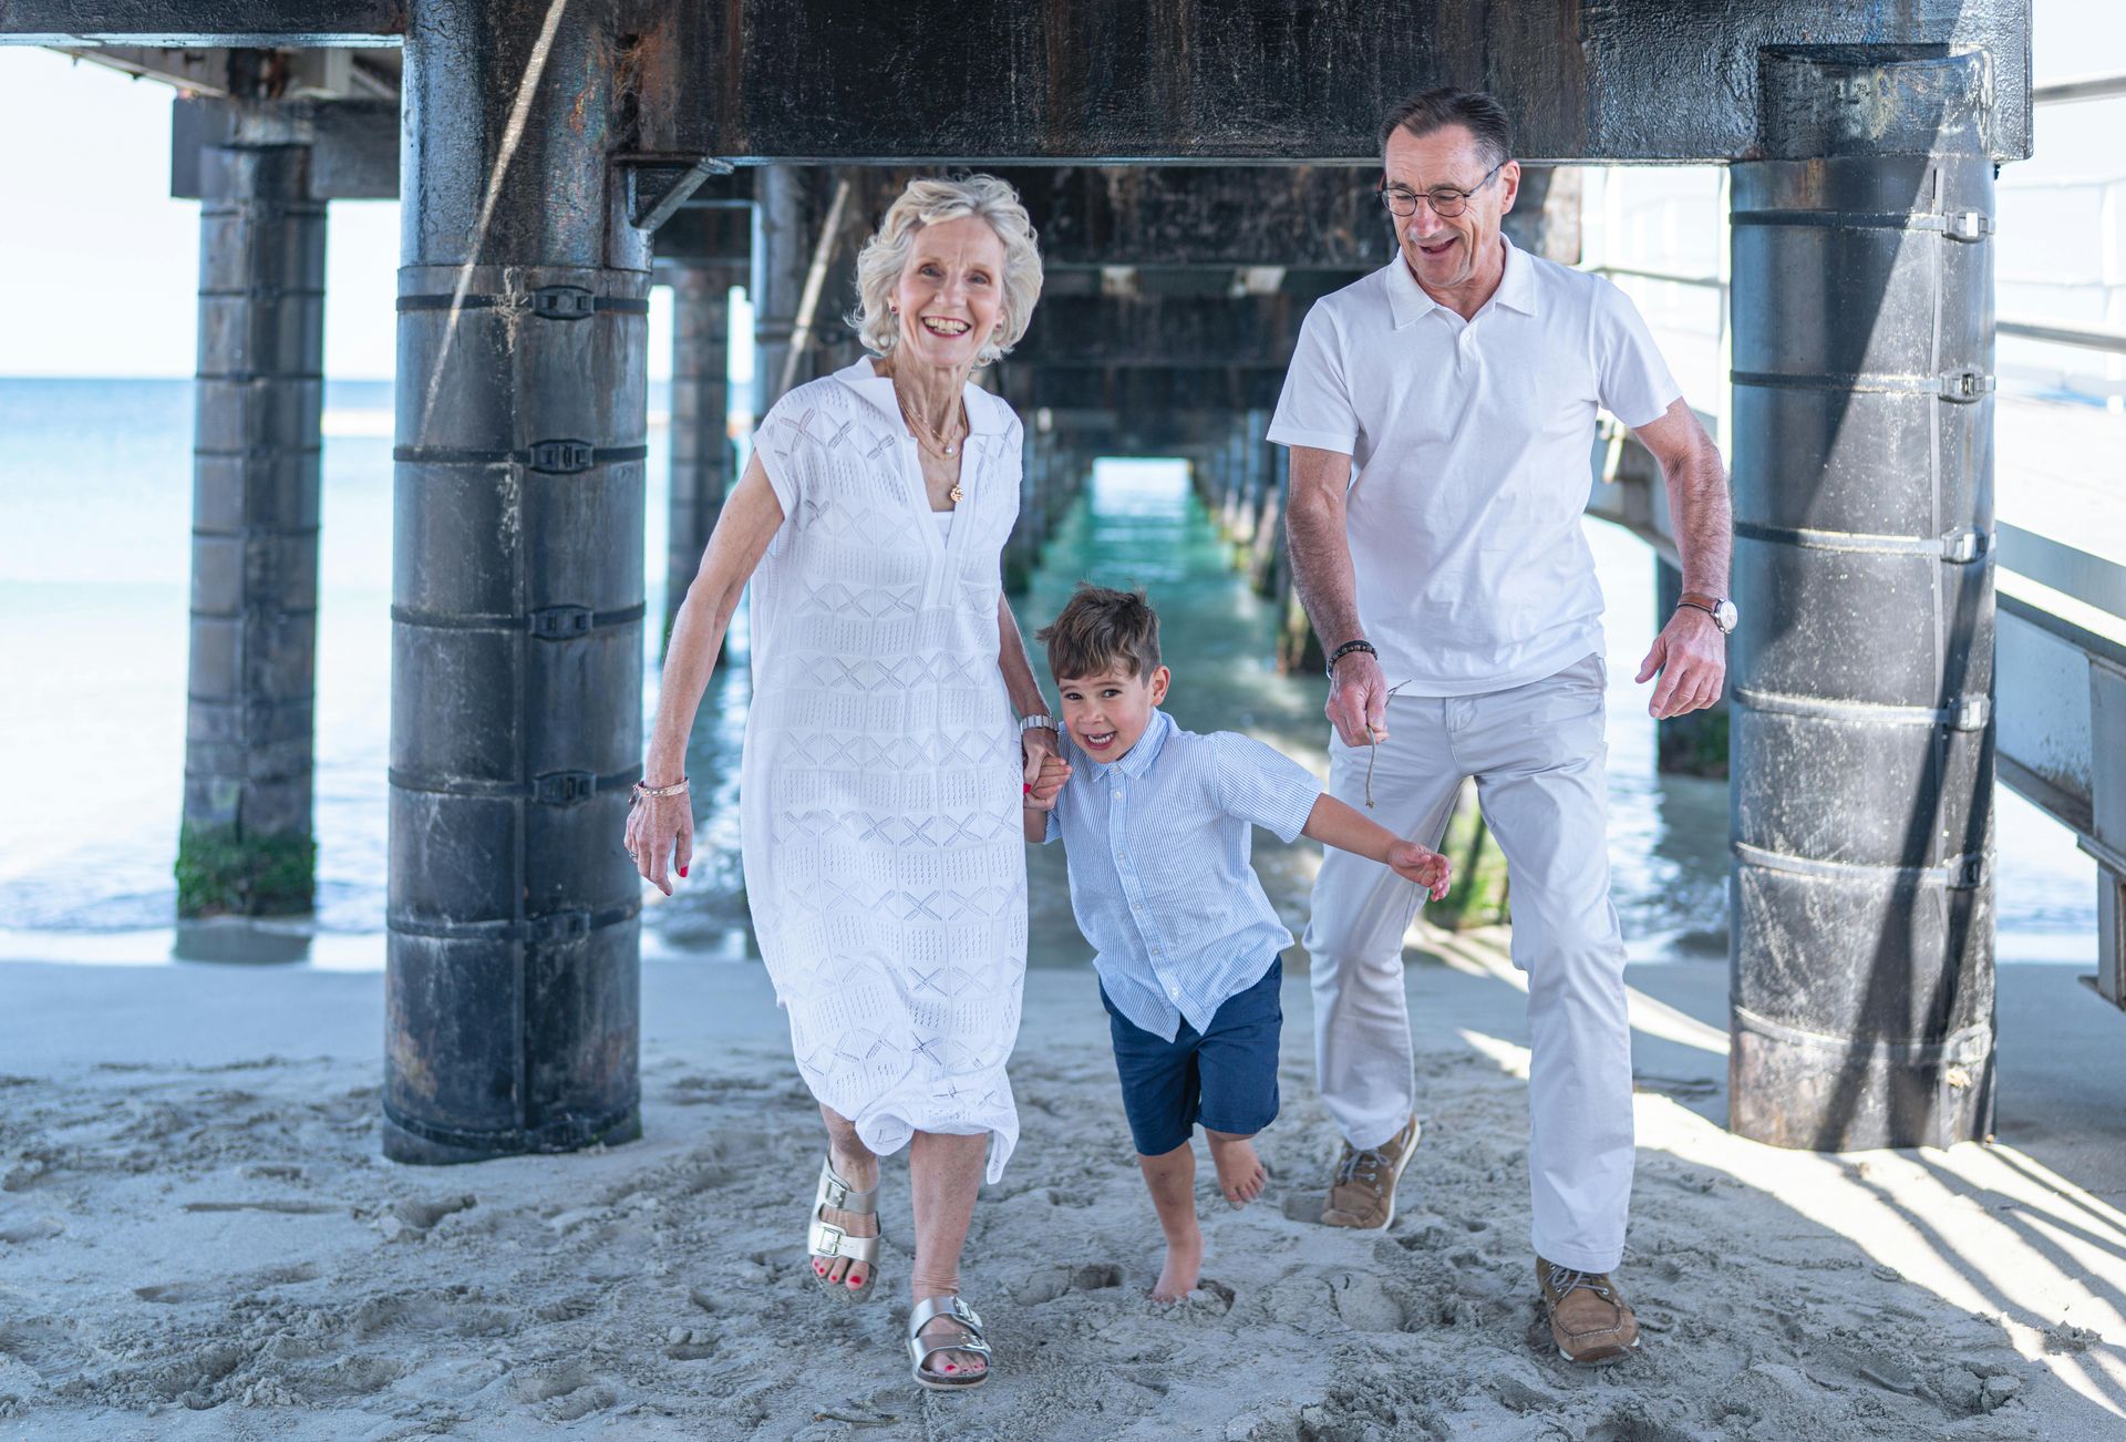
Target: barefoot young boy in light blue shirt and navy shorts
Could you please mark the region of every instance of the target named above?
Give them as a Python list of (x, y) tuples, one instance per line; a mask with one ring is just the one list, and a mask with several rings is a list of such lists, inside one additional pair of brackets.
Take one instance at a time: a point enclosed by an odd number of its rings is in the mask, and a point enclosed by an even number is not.
[(1027, 840), (1063, 840), (1078, 929), (1097, 949), (1123, 1110), (1167, 1236), (1154, 1302), (1199, 1278), (1195, 1153), (1203, 1123), (1233, 1206), (1263, 1193), (1254, 1134), (1278, 1114), (1278, 953), (1293, 934), (1248, 866), (1250, 827), (1299, 834), (1446, 895), (1448, 859), (1322, 795), (1297, 761), (1235, 732), (1197, 736), (1159, 702), (1159, 617), (1142, 591), (1080, 585), (1035, 634), (1063, 700), (1065, 757), (1027, 798)]

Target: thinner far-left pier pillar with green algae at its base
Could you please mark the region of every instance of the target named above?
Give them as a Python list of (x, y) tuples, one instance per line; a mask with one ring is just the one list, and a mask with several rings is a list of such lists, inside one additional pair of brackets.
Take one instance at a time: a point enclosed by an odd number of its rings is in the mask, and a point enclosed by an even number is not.
[(202, 153), (181, 917), (313, 904), (325, 202), (306, 145)]

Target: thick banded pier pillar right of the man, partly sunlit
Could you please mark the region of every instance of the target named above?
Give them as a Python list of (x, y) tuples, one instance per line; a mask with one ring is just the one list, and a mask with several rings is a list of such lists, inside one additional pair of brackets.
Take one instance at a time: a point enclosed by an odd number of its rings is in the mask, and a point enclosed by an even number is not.
[(1762, 83), (1771, 160), (1733, 172), (1731, 1125), (1945, 1146), (1994, 1102), (1988, 60), (1777, 51)]

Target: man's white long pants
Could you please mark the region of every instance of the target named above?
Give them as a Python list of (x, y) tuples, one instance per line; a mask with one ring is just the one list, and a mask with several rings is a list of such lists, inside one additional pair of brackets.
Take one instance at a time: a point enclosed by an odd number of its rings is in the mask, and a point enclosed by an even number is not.
[[(1631, 1023), (1624, 940), (1609, 904), (1603, 778), (1605, 666), (1488, 695), (1388, 702), (1373, 810), (1437, 846), (1465, 776), (1505, 853), (1514, 966), (1529, 974), (1529, 1183), (1535, 1251), (1609, 1272), (1631, 1208)], [(1365, 810), (1369, 747), (1329, 742), (1329, 793)], [(1322, 1102), (1352, 1146), (1378, 1146), (1416, 1110), (1403, 932), (1422, 891), (1388, 868), (1327, 851), (1305, 946)]]

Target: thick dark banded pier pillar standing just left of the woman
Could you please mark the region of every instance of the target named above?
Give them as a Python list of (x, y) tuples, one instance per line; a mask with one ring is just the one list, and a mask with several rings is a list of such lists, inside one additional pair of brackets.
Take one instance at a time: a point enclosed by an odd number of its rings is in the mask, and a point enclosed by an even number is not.
[[(427, 123), (398, 325), (398, 1161), (640, 1134), (640, 878), (619, 838), (642, 757), (648, 253), (608, 211), (606, 125), (583, 123), (612, 100), (600, 23), (570, 11), (549, 43), (536, 9), (423, 0), (406, 36)], [(504, 132), (523, 136), (506, 155)]]

